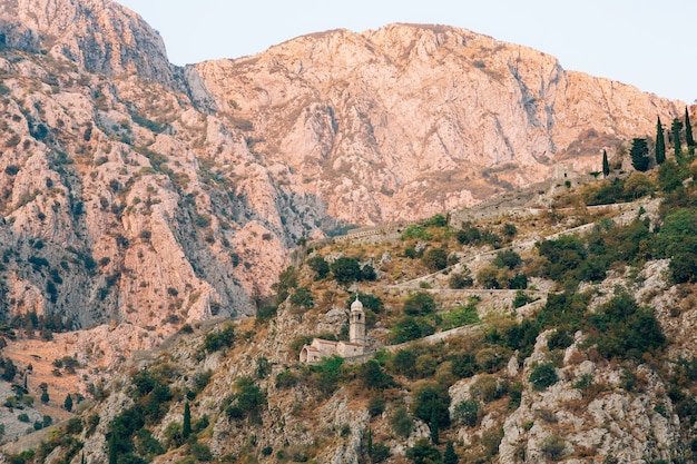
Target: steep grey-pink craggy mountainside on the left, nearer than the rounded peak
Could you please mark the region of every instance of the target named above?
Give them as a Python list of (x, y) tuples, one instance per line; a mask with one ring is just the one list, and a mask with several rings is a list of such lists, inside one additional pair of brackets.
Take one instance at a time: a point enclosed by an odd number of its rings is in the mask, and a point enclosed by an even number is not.
[(135, 13), (20, 1), (0, 17), (6, 320), (58, 315), (36, 327), (51, 330), (111, 320), (157, 338), (249, 313), (295, 237), (335, 227), (321, 201), (279, 184), (287, 167), (194, 108), (176, 80), (192, 73), (167, 62)]

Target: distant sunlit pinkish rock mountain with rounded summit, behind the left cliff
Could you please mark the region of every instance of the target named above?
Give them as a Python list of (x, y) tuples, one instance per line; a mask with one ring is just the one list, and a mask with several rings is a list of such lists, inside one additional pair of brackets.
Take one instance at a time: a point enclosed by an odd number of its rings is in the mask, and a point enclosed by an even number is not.
[(683, 108), (440, 26), (328, 31), (196, 69), (217, 108), (248, 122), (255, 151), (355, 224), (471, 206), (559, 161), (598, 170), (602, 148)]

